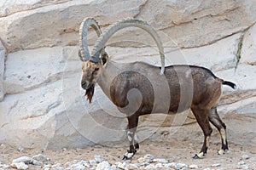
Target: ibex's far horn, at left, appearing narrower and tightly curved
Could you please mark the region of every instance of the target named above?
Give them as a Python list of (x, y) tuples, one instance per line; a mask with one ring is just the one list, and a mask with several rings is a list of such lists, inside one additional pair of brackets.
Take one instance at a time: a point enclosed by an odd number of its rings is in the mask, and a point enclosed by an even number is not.
[[(93, 29), (96, 31), (98, 37), (100, 37), (102, 34), (101, 28), (95, 19), (85, 18), (83, 20), (79, 28), (79, 36), (80, 36), (79, 57), (82, 61), (86, 61), (90, 59), (90, 53), (89, 53), (88, 44), (87, 44), (87, 32), (90, 26), (93, 27)], [(102, 50), (104, 50), (104, 48), (102, 48)], [(98, 60), (97, 61), (93, 60), (93, 61), (98, 62)]]

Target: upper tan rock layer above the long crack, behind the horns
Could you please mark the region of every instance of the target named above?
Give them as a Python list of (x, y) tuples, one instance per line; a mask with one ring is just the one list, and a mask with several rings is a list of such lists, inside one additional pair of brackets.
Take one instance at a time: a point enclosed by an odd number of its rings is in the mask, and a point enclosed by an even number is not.
[[(31, 0), (26, 3), (13, 0), (1, 1), (0, 6), (3, 7), (2, 16), (5, 16), (0, 18), (0, 37), (8, 51), (77, 45), (79, 24), (84, 17), (96, 17), (103, 28), (127, 17), (147, 20), (184, 48), (216, 42), (246, 30), (256, 21), (255, 2), (244, 0)], [(125, 37), (129, 38), (131, 34), (134, 30), (126, 32)], [(113, 42), (119, 39), (119, 35)], [(137, 39), (143, 41), (145, 37), (137, 33), (137, 37), (131, 40)]]

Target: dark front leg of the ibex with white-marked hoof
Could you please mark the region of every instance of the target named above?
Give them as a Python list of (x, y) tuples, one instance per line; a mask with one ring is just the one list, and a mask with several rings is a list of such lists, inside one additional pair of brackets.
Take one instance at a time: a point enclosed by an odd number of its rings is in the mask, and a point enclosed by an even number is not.
[(137, 130), (138, 116), (137, 114), (133, 114), (127, 117), (128, 119), (128, 127), (127, 127), (127, 138), (129, 140), (130, 149), (127, 150), (123, 160), (131, 159), (132, 156), (137, 152), (136, 149), (139, 148), (139, 144), (135, 139), (135, 133)]

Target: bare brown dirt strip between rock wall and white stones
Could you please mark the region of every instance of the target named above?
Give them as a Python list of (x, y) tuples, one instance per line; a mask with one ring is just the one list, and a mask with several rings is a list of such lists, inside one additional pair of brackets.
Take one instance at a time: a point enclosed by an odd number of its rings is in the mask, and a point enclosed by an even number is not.
[[(250, 169), (256, 169), (256, 148), (242, 146), (238, 144), (230, 144), (230, 153), (219, 156), (217, 150), (219, 144), (212, 144), (208, 150), (207, 156), (200, 160), (194, 160), (191, 157), (195, 155), (195, 150), (201, 148), (201, 144), (194, 144), (189, 142), (151, 142), (144, 141), (141, 144), (141, 149), (133, 157), (131, 163), (137, 163), (139, 157), (143, 157), (146, 154), (151, 154), (154, 158), (164, 158), (169, 162), (185, 163), (187, 165), (195, 164), (199, 166), (199, 169), (205, 169), (207, 167), (211, 169), (238, 169), (241, 168), (238, 165), (239, 161), (244, 161)], [(11, 147), (6, 144), (2, 144), (0, 147), (0, 160), (4, 164), (11, 164), (12, 160), (20, 156), (35, 156), (38, 153), (43, 153), (44, 156), (49, 157), (49, 163), (56, 164), (61, 163), (65, 165), (67, 162), (74, 160), (89, 161), (94, 159), (94, 156), (102, 156), (102, 158), (109, 163), (115, 163), (121, 161), (121, 158), (125, 152), (125, 148), (109, 148), (100, 145), (93, 147), (87, 147), (84, 149), (65, 149), (65, 150), (38, 150), (38, 149), (25, 149), (22, 152), (17, 148)], [(242, 159), (243, 155), (247, 155), (250, 158)], [(219, 164), (218, 167), (212, 167), (214, 164)], [(39, 167), (31, 166), (30, 169), (40, 169)]]

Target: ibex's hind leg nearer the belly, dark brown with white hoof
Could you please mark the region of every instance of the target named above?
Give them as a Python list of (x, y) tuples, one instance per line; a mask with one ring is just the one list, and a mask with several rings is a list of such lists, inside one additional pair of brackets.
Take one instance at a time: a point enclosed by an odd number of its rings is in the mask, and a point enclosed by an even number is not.
[(208, 119), (209, 110), (201, 108), (192, 108), (192, 111), (195, 115), (195, 119), (198, 122), (204, 133), (204, 143), (202, 145), (201, 151), (198, 154), (195, 154), (194, 159), (201, 159), (207, 154), (207, 149), (210, 144), (210, 136), (212, 133), (212, 127)]

